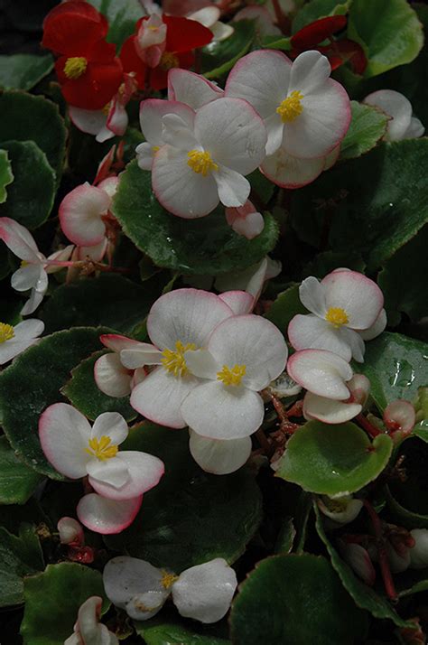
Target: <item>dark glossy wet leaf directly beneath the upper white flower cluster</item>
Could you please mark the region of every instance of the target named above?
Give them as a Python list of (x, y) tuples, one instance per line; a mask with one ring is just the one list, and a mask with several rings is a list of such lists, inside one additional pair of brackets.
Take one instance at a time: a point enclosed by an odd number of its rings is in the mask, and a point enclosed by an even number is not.
[(217, 274), (255, 264), (274, 248), (278, 227), (265, 215), (265, 229), (255, 239), (237, 235), (224, 209), (207, 217), (183, 220), (154, 198), (150, 173), (133, 161), (121, 174), (113, 211), (126, 235), (157, 266), (186, 274)]

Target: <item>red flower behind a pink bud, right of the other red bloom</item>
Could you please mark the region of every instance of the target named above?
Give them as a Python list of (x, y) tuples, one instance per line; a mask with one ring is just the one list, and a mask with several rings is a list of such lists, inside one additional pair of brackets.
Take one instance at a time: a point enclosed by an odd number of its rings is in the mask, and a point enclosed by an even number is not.
[[(142, 21), (136, 25), (136, 32)], [(148, 82), (153, 89), (167, 87), (168, 71), (175, 67), (188, 70), (194, 62), (193, 50), (203, 47), (212, 40), (212, 32), (202, 24), (187, 18), (163, 15), (163, 23), (167, 25), (165, 50), (159, 65), (149, 70)], [(135, 48), (136, 36), (130, 36), (122, 47), (120, 59), (127, 72), (135, 72), (138, 87), (144, 89), (147, 68)]]

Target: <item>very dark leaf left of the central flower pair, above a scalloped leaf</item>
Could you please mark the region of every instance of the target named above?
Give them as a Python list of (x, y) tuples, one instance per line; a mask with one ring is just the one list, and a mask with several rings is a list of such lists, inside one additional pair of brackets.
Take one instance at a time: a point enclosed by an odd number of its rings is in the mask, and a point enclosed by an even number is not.
[[(123, 276), (103, 274), (60, 285), (40, 315), (46, 332), (99, 324), (130, 332), (149, 313), (154, 294)], [(86, 358), (86, 357), (85, 357)]]

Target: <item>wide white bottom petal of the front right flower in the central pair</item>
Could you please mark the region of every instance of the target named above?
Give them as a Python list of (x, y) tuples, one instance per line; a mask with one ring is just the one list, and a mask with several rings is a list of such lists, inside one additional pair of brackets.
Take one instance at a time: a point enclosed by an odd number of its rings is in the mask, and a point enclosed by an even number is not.
[(184, 421), (198, 435), (211, 439), (240, 439), (262, 425), (262, 398), (242, 386), (209, 381), (194, 388), (181, 406)]

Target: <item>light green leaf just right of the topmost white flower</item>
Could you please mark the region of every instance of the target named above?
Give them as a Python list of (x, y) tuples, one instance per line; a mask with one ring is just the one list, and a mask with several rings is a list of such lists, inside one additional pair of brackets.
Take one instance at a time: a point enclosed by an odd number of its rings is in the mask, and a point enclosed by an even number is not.
[(389, 117), (372, 106), (351, 101), (352, 121), (340, 144), (340, 159), (354, 159), (368, 153), (385, 136)]

